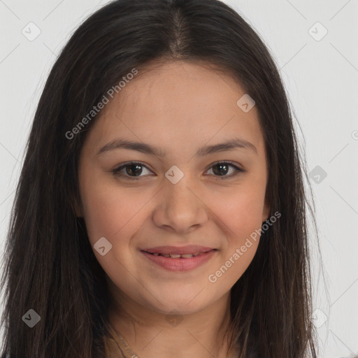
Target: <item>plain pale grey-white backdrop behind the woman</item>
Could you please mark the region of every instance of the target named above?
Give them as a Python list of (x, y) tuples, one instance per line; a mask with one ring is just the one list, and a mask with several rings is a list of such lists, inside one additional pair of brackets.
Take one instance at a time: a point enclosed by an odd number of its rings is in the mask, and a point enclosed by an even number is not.
[[(78, 25), (107, 2), (0, 0), (1, 254), (50, 68)], [(224, 2), (273, 55), (306, 150), (322, 251), (320, 264), (310, 234), (320, 357), (352, 357), (358, 354), (358, 0)]]

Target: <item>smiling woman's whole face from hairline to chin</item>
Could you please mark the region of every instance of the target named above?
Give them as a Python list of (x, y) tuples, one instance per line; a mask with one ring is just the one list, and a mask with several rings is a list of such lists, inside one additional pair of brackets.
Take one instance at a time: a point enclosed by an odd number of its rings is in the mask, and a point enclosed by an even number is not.
[[(259, 238), (250, 247), (247, 239), (269, 209), (264, 138), (255, 106), (245, 113), (236, 104), (243, 94), (203, 64), (170, 62), (139, 71), (101, 111), (80, 153), (78, 213), (116, 295), (194, 313), (248, 268)], [(250, 144), (217, 147), (235, 140)], [(188, 245), (200, 255), (148, 253)]]

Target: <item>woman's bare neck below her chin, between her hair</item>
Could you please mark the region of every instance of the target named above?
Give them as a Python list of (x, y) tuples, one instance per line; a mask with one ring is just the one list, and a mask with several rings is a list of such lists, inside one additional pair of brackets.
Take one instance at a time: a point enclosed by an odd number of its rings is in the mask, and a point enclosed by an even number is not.
[(122, 296), (108, 309), (108, 320), (138, 357), (230, 357), (230, 292), (191, 314), (158, 313)]

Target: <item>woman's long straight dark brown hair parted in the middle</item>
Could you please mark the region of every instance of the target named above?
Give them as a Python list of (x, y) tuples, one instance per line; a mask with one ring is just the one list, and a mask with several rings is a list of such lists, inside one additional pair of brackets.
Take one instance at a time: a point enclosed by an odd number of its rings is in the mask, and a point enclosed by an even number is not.
[[(159, 60), (218, 66), (255, 99), (259, 113), (266, 195), (272, 213), (281, 216), (262, 233), (252, 263), (231, 289), (232, 343), (240, 345), (241, 358), (248, 352), (317, 357), (306, 222), (312, 209), (292, 110), (263, 41), (217, 0), (113, 1), (85, 20), (62, 50), (38, 103), (10, 219), (1, 279), (2, 354), (104, 356), (110, 297), (75, 211), (78, 157), (99, 115), (79, 133), (73, 128), (122, 76), (134, 68), (140, 76), (146, 64)], [(41, 317), (32, 328), (23, 320), (30, 309)]]

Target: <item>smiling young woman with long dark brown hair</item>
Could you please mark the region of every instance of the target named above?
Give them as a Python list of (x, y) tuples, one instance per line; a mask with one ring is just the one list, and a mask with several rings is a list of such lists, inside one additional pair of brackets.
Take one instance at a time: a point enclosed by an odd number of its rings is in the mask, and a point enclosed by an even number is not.
[(96, 11), (31, 128), (3, 357), (317, 357), (303, 160), (273, 59), (229, 6)]

